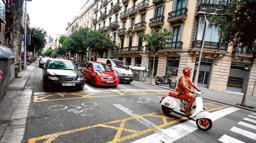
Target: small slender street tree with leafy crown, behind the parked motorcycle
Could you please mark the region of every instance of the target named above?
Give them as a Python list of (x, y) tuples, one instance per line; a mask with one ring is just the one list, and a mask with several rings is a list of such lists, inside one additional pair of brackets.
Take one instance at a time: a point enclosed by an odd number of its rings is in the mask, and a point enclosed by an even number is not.
[(160, 50), (165, 50), (168, 40), (171, 40), (171, 33), (167, 28), (163, 28), (163, 30), (155, 31), (155, 29), (151, 29), (150, 34), (140, 34), (139, 37), (143, 38), (143, 41), (146, 42), (145, 47), (146, 50), (154, 53), (153, 58), (153, 71), (155, 65), (155, 53)]

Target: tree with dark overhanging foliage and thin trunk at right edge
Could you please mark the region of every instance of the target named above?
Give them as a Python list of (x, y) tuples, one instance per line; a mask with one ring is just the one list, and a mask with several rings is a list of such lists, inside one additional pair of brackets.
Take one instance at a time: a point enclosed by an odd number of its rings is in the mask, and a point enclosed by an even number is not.
[(249, 85), (250, 73), (256, 58), (256, 1), (255, 0), (232, 0), (223, 5), (215, 15), (209, 18), (209, 26), (219, 27), (223, 43), (230, 46), (247, 47), (252, 52), (251, 63), (244, 88), (244, 95), (240, 106), (245, 106), (246, 94)]

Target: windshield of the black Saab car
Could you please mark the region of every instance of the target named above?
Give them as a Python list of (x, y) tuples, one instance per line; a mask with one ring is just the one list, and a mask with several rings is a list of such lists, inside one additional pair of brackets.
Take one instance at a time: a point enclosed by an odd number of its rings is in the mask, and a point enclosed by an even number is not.
[(50, 61), (48, 69), (61, 69), (61, 70), (78, 70), (74, 62), (66, 61)]

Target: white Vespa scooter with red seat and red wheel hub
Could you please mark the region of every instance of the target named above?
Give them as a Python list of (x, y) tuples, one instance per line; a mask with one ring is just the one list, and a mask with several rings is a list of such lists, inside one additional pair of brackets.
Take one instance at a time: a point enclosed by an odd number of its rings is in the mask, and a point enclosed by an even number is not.
[(196, 125), (202, 130), (210, 130), (212, 127), (212, 115), (209, 112), (204, 111), (202, 96), (204, 92), (196, 92), (196, 105), (192, 107), (194, 113), (192, 115), (187, 115), (185, 113), (187, 101), (185, 98), (179, 98), (176, 96), (176, 92), (171, 91), (167, 97), (163, 96), (162, 100), (159, 102), (162, 104), (162, 111), (164, 114), (169, 115), (171, 112), (176, 113), (180, 116), (187, 117), (191, 119), (194, 117), (196, 119)]

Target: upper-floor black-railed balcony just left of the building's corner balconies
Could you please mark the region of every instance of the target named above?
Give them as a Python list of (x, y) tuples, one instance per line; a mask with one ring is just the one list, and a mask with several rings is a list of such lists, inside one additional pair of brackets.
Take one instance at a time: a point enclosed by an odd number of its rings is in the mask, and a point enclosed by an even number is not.
[(187, 19), (187, 14), (188, 14), (188, 9), (186, 8), (181, 8), (181, 9), (169, 12), (167, 22), (169, 22), (170, 25), (184, 23), (185, 20)]

